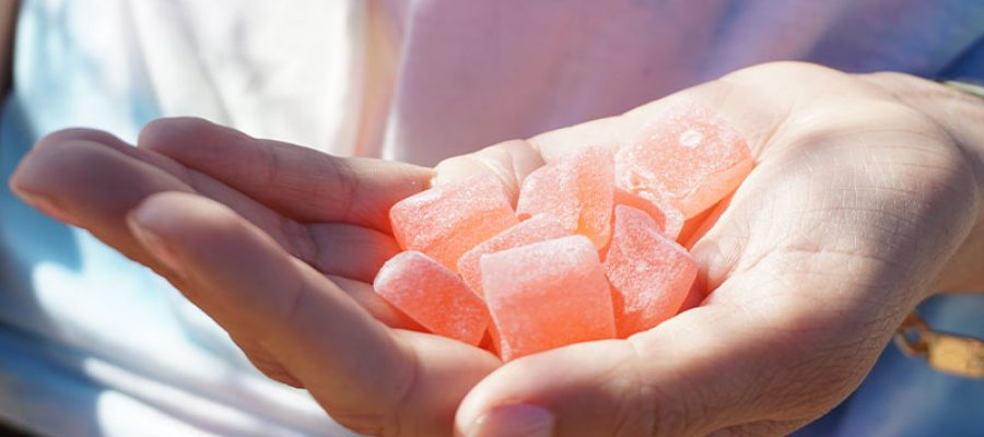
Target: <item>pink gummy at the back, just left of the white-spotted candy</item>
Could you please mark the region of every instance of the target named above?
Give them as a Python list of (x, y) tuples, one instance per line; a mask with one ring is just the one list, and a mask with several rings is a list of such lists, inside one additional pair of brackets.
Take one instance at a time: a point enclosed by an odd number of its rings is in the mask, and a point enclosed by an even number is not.
[(519, 189), (519, 217), (549, 214), (565, 229), (608, 244), (614, 192), (614, 161), (606, 147), (587, 147), (531, 173)]

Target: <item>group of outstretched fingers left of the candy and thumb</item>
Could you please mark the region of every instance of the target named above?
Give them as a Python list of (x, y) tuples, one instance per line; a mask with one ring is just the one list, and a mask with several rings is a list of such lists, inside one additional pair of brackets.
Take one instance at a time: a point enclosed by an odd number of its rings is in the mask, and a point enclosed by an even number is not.
[(162, 274), (261, 371), (306, 388), (341, 424), (449, 433), (461, 398), (500, 361), (388, 328), (419, 327), (370, 285), (399, 251), (389, 206), (426, 188), (432, 170), (336, 158), (194, 119), (155, 121), (139, 145), (58, 132), (32, 150), (11, 187)]

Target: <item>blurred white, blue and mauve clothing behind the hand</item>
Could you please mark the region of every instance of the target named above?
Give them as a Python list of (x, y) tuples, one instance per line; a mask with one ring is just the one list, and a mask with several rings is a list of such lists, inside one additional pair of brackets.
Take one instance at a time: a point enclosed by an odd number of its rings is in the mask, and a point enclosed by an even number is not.
[[(781, 59), (984, 78), (974, 0), (23, 0), (0, 175), (42, 135), (198, 116), (433, 165)], [(984, 335), (984, 295), (930, 322)], [(984, 383), (889, 347), (801, 435), (984, 435)], [(46, 435), (348, 435), (151, 271), (0, 189), (0, 417)]]

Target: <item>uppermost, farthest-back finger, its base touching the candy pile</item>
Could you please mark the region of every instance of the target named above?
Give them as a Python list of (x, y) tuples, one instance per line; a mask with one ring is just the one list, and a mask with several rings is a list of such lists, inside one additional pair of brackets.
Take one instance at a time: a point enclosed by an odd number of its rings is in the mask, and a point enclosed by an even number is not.
[(139, 145), (300, 222), (344, 222), (383, 232), (389, 231), (389, 206), (425, 189), (432, 176), (409, 164), (339, 158), (192, 118), (149, 123)]

